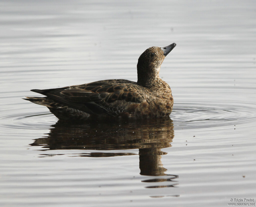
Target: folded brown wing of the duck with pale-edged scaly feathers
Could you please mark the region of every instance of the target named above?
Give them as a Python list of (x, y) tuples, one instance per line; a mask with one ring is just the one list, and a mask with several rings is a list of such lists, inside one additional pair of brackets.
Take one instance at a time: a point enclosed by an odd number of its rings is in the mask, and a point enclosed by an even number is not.
[(89, 114), (133, 112), (145, 100), (145, 88), (127, 80), (104, 80), (56, 89), (31, 90)]

